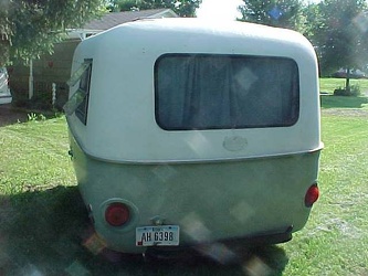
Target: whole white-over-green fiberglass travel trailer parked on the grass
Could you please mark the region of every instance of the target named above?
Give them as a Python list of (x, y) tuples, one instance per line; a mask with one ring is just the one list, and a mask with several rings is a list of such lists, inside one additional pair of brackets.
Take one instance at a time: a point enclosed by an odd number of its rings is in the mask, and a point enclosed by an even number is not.
[(280, 243), (305, 225), (322, 142), (301, 34), (141, 20), (83, 41), (72, 72), (70, 153), (107, 247)]

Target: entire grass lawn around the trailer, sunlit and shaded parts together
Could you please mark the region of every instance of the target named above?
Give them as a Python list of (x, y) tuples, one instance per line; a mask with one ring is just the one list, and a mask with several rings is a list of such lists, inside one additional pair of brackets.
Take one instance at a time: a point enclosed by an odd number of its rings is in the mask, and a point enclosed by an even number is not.
[(0, 127), (0, 275), (368, 275), (367, 98), (322, 96), (322, 195), (306, 227), (225, 266), (94, 255), (65, 118)]

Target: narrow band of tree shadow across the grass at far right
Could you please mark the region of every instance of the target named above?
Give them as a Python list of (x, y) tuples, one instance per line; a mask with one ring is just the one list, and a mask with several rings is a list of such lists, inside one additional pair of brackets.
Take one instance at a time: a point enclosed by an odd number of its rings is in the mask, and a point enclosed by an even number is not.
[(320, 95), (323, 108), (362, 108), (366, 104), (368, 104), (367, 97)]

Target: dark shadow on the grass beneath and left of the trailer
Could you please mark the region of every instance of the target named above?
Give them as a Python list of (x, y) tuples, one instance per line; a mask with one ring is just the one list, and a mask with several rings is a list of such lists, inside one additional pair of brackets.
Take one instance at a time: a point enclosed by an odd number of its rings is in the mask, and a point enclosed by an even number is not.
[(84, 246), (93, 236), (76, 187), (0, 198), (0, 275), (282, 275), (288, 262), (277, 246), (238, 245), (240, 262), (228, 265), (191, 253), (166, 259), (93, 254)]

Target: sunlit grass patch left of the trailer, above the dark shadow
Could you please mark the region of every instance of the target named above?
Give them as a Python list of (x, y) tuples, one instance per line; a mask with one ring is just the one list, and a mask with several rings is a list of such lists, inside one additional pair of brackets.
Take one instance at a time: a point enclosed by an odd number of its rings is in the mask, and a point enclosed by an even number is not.
[(64, 118), (2, 127), (0, 145), (1, 194), (75, 183)]

